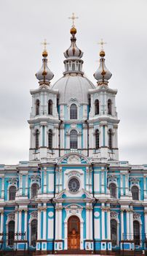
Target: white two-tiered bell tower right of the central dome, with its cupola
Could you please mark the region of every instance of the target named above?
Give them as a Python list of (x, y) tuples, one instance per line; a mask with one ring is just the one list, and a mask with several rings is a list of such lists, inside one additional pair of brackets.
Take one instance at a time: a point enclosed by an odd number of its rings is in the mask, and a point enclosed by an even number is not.
[[(90, 155), (98, 159), (119, 160), (118, 149), (118, 124), (119, 119), (116, 112), (115, 97), (116, 89), (108, 87), (108, 80), (111, 78), (111, 72), (105, 64), (105, 51), (103, 42), (100, 42), (100, 66), (95, 72), (94, 77), (97, 80), (95, 90), (90, 90), (91, 108), (90, 108)], [(94, 135), (94, 136), (92, 136)], [(95, 148), (93, 150), (93, 148)]]

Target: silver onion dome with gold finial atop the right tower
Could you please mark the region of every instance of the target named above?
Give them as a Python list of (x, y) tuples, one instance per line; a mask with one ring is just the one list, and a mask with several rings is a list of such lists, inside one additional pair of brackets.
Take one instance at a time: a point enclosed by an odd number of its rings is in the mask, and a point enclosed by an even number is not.
[(100, 66), (94, 74), (96, 80), (98, 80), (98, 86), (101, 84), (108, 85), (108, 80), (111, 78), (111, 72), (106, 68), (105, 65), (105, 51), (100, 50)]

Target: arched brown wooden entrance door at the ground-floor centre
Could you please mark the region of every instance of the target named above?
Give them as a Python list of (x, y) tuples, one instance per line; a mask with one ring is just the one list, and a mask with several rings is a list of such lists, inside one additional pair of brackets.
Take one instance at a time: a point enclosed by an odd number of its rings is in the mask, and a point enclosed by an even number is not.
[(80, 220), (76, 216), (68, 219), (68, 249), (80, 249)]

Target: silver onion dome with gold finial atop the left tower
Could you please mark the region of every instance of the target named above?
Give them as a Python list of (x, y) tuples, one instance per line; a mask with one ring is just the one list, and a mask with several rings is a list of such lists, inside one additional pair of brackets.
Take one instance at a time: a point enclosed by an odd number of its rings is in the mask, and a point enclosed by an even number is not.
[(42, 67), (39, 69), (39, 71), (36, 73), (36, 78), (39, 80), (39, 85), (46, 84), (49, 86), (50, 80), (54, 77), (54, 74), (52, 71), (50, 71), (49, 67), (47, 66), (47, 50), (44, 48), (44, 51), (42, 53), (43, 59), (42, 59)]

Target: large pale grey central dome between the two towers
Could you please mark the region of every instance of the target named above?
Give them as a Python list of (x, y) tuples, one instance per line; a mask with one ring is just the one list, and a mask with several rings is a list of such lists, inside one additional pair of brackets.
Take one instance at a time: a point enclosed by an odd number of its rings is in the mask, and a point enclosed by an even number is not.
[(88, 104), (88, 90), (95, 89), (93, 83), (81, 75), (65, 75), (57, 80), (52, 89), (59, 90), (59, 103), (67, 104), (73, 98), (80, 104)]

